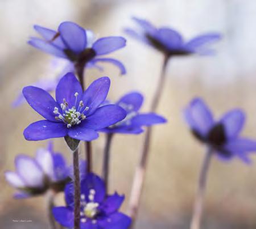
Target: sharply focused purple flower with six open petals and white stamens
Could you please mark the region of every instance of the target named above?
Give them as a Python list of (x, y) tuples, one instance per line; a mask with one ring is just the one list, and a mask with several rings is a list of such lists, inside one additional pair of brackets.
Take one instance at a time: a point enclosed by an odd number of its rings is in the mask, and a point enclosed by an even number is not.
[(29, 141), (69, 136), (82, 141), (98, 138), (97, 130), (123, 120), (126, 112), (117, 105), (99, 106), (106, 99), (110, 79), (95, 80), (82, 91), (73, 73), (60, 79), (56, 87), (56, 101), (47, 91), (38, 87), (23, 88), (28, 104), (46, 120), (32, 123), (24, 130)]

